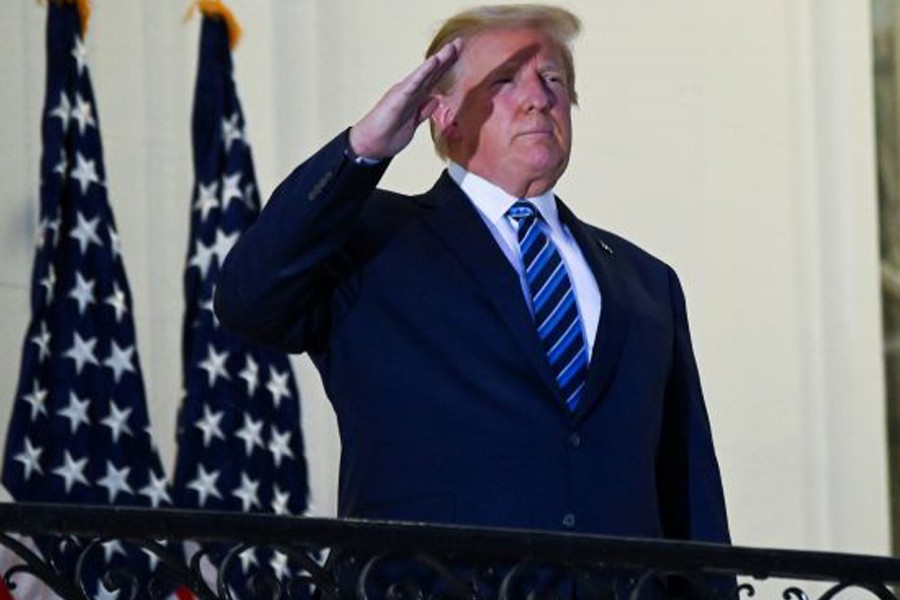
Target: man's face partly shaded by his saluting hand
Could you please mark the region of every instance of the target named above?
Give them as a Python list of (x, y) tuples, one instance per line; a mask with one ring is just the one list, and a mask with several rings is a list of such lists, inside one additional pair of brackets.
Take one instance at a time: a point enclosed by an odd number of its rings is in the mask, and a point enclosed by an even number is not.
[(572, 145), (562, 53), (534, 29), (493, 29), (466, 41), (435, 120), (448, 157), (518, 197), (556, 183)]

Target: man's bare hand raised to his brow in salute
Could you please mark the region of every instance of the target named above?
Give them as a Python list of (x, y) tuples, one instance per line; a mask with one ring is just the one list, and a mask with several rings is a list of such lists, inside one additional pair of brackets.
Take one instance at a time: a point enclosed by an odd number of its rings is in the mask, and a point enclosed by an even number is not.
[(447, 43), (428, 57), (406, 79), (395, 84), (350, 129), (353, 151), (369, 158), (394, 156), (412, 141), (416, 128), (435, 111), (434, 86), (456, 63), (462, 39)]

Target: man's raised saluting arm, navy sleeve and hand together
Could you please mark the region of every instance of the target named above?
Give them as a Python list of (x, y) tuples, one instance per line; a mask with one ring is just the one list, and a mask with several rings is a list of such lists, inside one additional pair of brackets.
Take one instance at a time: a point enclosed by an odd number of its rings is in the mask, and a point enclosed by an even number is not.
[(332, 294), (354, 268), (343, 247), (390, 158), (434, 111), (432, 91), (460, 46), (450, 42), (420, 64), (276, 188), (222, 266), (215, 309), (226, 327), (292, 352), (323, 343)]

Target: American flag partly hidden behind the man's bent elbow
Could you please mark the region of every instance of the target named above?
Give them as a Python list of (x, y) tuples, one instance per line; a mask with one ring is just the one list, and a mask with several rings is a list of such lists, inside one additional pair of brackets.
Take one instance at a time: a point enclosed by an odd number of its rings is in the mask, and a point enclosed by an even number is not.
[[(217, 14), (206, 10), (212, 4)], [(206, 6), (206, 8), (204, 8)], [(194, 96), (195, 182), (184, 274), (184, 404), (178, 423), (176, 504), (299, 515), (307, 477), (300, 402), (288, 357), (223, 330), (212, 298), (225, 255), (259, 214), (253, 159), (232, 75), (230, 14), (204, 11)], [(279, 579), (286, 557), (248, 551), (240, 569), (266, 565)], [(271, 573), (271, 571), (270, 571)]]

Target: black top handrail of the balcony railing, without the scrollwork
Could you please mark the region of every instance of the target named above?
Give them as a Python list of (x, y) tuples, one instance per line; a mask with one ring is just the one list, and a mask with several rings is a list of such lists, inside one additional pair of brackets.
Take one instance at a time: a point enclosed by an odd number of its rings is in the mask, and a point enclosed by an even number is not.
[(0, 503), (0, 531), (123, 540), (240, 540), (273, 546), (340, 544), (361, 549), (439, 550), (445, 554), (459, 551), (486, 557), (527, 554), (556, 561), (702, 569), (757, 579), (900, 584), (900, 559), (892, 557), (426, 523), (15, 502)]

